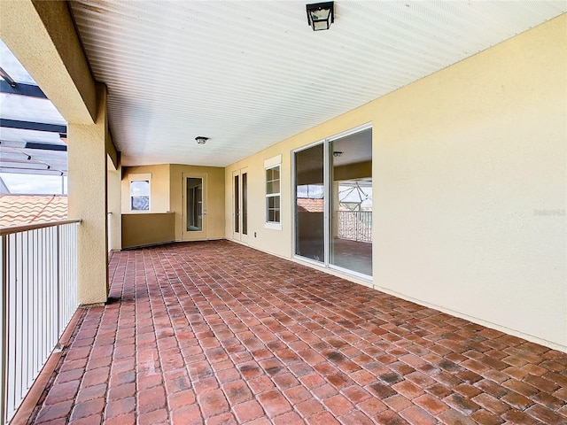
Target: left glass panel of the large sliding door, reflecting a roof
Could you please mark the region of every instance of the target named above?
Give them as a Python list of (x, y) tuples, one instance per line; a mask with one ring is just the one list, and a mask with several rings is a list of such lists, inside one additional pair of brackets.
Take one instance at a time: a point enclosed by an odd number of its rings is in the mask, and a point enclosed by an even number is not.
[(295, 253), (324, 262), (323, 145), (295, 152)]

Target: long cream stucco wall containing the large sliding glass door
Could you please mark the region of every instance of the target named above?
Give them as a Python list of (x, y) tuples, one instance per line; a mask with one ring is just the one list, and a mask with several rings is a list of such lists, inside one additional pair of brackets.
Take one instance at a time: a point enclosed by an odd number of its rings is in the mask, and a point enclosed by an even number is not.
[[(291, 151), (372, 122), (367, 283), (567, 350), (566, 29), (562, 15), (228, 166), (225, 234), (231, 174), (247, 167), (248, 243), (290, 258)], [(264, 228), (276, 155), (281, 231)]]

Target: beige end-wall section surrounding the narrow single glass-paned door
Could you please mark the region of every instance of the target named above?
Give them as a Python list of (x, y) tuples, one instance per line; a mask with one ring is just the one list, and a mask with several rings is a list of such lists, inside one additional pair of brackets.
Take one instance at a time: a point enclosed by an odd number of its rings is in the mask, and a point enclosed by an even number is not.
[(206, 239), (224, 237), (224, 168), (171, 165), (171, 211), (175, 213), (175, 240), (183, 240), (183, 173), (206, 175)]

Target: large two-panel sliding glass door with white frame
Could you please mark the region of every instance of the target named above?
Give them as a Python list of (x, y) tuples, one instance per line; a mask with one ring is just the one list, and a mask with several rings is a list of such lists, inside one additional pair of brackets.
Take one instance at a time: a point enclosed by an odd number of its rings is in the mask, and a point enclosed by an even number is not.
[(372, 129), (294, 152), (295, 255), (372, 275)]

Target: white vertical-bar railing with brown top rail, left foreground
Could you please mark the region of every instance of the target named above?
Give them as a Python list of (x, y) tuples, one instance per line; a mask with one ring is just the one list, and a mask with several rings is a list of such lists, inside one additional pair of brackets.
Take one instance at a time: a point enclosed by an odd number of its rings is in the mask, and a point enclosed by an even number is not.
[(12, 420), (79, 305), (77, 226), (66, 220), (0, 228), (0, 423)]

